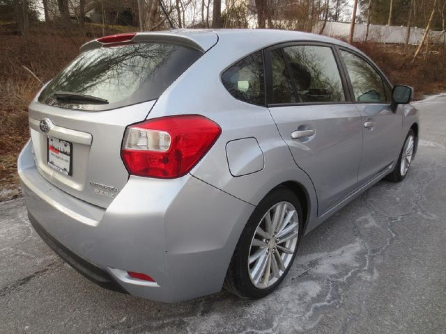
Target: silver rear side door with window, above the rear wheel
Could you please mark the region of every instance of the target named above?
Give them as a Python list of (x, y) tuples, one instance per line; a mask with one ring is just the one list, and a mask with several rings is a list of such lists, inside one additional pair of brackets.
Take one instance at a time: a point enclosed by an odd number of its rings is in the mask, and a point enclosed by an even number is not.
[(313, 181), (322, 215), (357, 187), (361, 116), (330, 45), (273, 47), (265, 59), (269, 110), (296, 164)]

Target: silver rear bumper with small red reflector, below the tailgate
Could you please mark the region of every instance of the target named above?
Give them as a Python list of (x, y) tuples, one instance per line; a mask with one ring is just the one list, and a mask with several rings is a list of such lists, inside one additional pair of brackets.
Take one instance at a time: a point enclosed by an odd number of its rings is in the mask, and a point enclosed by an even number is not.
[(30, 220), (56, 253), (99, 285), (157, 301), (218, 292), (254, 209), (191, 175), (131, 177), (107, 209), (99, 208), (41, 177), (29, 143), (18, 170)]

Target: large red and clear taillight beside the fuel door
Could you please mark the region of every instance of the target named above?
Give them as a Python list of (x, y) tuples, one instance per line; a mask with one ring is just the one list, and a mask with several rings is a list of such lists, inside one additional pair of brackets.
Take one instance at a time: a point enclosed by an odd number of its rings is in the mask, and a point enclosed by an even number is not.
[(212, 147), (220, 126), (199, 115), (168, 116), (129, 126), (121, 157), (131, 175), (185, 175)]

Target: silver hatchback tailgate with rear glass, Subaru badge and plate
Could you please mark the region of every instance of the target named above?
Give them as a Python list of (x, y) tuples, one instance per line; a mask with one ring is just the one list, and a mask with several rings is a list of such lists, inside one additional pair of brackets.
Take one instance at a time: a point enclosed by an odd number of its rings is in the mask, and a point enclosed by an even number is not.
[[(37, 169), (56, 187), (106, 208), (124, 187), (124, 131), (203, 51), (162, 42), (80, 53), (29, 106)], [(81, 94), (87, 95), (83, 97)]]

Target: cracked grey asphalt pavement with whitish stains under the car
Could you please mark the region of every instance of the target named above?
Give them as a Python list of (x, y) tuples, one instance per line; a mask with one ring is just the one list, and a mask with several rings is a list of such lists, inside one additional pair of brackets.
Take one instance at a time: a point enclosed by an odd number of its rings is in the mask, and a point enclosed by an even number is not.
[(446, 333), (446, 94), (421, 113), (402, 183), (381, 181), (302, 239), (268, 297), (163, 304), (102, 289), (0, 204), (0, 333)]

